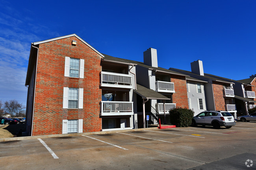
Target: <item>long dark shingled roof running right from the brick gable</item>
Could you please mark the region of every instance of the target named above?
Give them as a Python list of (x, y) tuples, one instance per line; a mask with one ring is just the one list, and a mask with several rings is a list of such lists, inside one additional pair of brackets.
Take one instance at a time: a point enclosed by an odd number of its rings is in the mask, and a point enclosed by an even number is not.
[[(151, 66), (148, 66), (146, 64), (144, 64), (143, 62), (139, 62), (139, 61), (134, 61), (134, 60), (128, 60), (128, 59), (123, 59), (123, 58), (117, 58), (117, 57), (112, 57), (110, 55), (106, 55), (106, 54), (103, 54), (105, 57), (104, 57), (104, 60), (111, 60), (111, 61), (116, 61), (116, 62), (124, 62), (124, 63), (127, 63), (127, 64), (137, 64), (139, 66), (142, 66), (142, 67), (145, 67), (145, 68), (149, 68), (149, 69), (156, 69), (156, 71), (165, 71), (167, 73), (170, 73), (170, 74), (175, 74), (175, 75), (182, 75), (182, 76), (188, 76), (188, 75), (185, 75), (185, 74), (182, 74), (182, 73), (178, 73), (176, 71), (171, 71), (169, 69), (165, 69), (165, 68), (161, 68), (161, 67), (151, 67)], [(189, 77), (189, 76), (188, 76)]]

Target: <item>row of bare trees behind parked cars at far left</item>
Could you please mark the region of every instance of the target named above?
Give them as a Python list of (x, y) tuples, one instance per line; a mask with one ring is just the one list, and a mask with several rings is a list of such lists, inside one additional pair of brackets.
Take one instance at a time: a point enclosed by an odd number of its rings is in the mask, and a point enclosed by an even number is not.
[(16, 100), (0, 101), (0, 117), (9, 114), (11, 117), (25, 117), (26, 107)]

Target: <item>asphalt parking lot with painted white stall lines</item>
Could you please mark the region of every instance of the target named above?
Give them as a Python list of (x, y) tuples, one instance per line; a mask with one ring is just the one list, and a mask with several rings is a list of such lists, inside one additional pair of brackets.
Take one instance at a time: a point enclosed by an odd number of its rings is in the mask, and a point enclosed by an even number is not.
[[(19, 138), (18, 138), (19, 139)], [(230, 129), (146, 128), (129, 132), (0, 141), (0, 169), (256, 169), (256, 122)], [(4, 164), (3, 164), (4, 163)]]

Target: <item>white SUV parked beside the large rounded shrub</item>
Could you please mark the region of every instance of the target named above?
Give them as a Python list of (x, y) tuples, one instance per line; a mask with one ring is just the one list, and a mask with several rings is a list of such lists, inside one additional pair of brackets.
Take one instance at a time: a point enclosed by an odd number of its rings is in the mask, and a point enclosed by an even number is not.
[(205, 111), (201, 112), (192, 119), (191, 126), (213, 126), (219, 129), (221, 126), (231, 128), (236, 125), (234, 117), (226, 111)]

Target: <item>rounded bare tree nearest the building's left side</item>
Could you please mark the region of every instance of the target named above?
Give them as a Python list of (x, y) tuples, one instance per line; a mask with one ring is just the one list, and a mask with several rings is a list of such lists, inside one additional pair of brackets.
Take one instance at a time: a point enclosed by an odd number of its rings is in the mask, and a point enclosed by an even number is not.
[(4, 108), (6, 113), (10, 114), (11, 117), (23, 116), (24, 115), (24, 106), (17, 102), (16, 100), (6, 101), (4, 103)]

